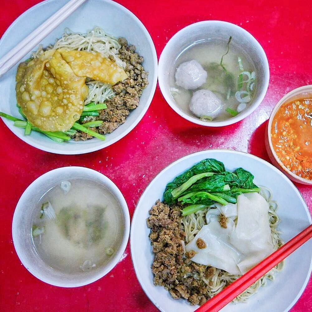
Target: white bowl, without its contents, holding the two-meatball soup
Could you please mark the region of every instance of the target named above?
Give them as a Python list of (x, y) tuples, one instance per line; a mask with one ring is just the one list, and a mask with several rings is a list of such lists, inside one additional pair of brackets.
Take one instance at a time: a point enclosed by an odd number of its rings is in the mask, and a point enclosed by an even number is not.
[[(185, 48), (196, 41), (205, 39), (223, 39), (232, 41), (248, 54), (256, 67), (257, 87), (251, 104), (241, 113), (224, 121), (207, 122), (183, 112), (173, 100), (169, 90), (169, 72), (176, 58)], [(245, 29), (223, 21), (203, 21), (191, 24), (177, 32), (166, 44), (158, 62), (158, 83), (163, 97), (171, 108), (183, 118), (194, 124), (207, 127), (222, 127), (234, 124), (250, 115), (262, 102), (269, 85), (269, 64), (260, 43)]]

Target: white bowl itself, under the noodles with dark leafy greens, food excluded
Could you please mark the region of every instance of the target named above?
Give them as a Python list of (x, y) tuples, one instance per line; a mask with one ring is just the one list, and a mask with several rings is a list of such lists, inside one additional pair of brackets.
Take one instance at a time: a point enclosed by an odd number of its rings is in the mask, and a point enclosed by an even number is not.
[[(255, 183), (272, 190), (273, 199), (279, 204), (281, 219), (279, 230), (284, 241), (290, 240), (310, 225), (308, 208), (291, 181), (270, 163), (256, 156), (230, 150), (207, 150), (190, 154), (163, 169), (142, 194), (132, 218), (130, 248), (137, 278), (149, 299), (163, 312), (193, 312), (198, 306), (191, 306), (186, 300), (172, 299), (167, 290), (154, 286), (151, 265), (153, 252), (149, 241), (149, 228), (146, 219), (155, 201), (162, 199), (165, 186), (177, 175), (205, 158), (216, 158), (224, 163), (229, 171), (238, 167), (249, 170), (255, 176)], [(287, 312), (295, 304), (305, 289), (311, 274), (312, 241), (306, 242), (285, 261), (282, 272), (261, 287), (257, 294), (246, 303), (228, 304), (222, 312)]]

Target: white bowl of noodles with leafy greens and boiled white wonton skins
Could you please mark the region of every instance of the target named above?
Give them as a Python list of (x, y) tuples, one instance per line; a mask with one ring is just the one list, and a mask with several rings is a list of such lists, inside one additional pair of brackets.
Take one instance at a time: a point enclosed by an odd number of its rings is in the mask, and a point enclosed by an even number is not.
[[(202, 151), (170, 164), (145, 189), (132, 218), (132, 261), (159, 310), (195, 311), (309, 224), (300, 193), (271, 164)], [(311, 265), (308, 242), (222, 311), (289, 311)]]

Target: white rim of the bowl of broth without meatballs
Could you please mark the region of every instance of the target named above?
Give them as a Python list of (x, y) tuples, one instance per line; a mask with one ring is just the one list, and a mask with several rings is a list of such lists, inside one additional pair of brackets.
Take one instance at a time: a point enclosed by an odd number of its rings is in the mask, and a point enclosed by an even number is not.
[[(16, 211), (17, 211), (17, 207), (20, 205), (20, 203), (23, 200), (23, 197), (25, 197), (28, 189), (34, 184), (34, 183), (40, 183), (40, 182), (44, 182), (46, 180), (46, 178), (53, 172), (57, 172), (57, 171), (63, 171), (66, 170), (67, 172), (73, 171), (73, 172), (77, 172), (77, 170), (79, 170), (80, 173), (84, 173), (84, 172), (88, 172), (88, 173), (92, 173), (92, 175), (98, 177), (101, 180), (105, 180), (102, 181), (101, 184), (109, 186), (110, 188), (114, 189), (114, 191), (118, 194), (119, 198), (116, 198), (117, 202), (119, 202), (120, 207), (121, 207), (121, 211), (123, 212), (124, 215), (124, 234), (121, 240), (121, 243), (119, 245), (119, 250), (118, 252), (115, 254), (115, 260), (112, 261), (112, 263), (108, 266), (104, 266), (103, 270), (100, 271), (95, 277), (90, 278), (85, 280), (85, 282), (82, 283), (51, 283), (47, 280), (43, 280), (41, 276), (38, 276), (37, 274), (35, 274), (34, 272), (32, 272), (32, 269), (29, 269), (25, 263), (27, 263), (27, 261), (25, 261), (25, 257), (22, 253), (22, 250), (18, 250), (15, 247), (15, 241), (16, 241), (16, 237), (14, 232), (17, 231), (17, 229), (15, 229), (15, 220), (16, 220)], [(18, 209), (22, 209), (21, 207)], [(105, 275), (107, 275), (120, 261), (122, 255), (124, 254), (124, 251), (126, 250), (127, 244), (128, 244), (128, 240), (129, 240), (129, 234), (130, 234), (130, 214), (129, 214), (129, 208), (127, 205), (127, 202), (123, 196), (123, 194), (121, 193), (121, 191), (119, 190), (119, 188), (116, 186), (116, 184), (107, 176), (105, 176), (104, 174), (90, 169), (90, 168), (86, 168), (86, 167), (79, 167), (79, 166), (72, 166), (72, 167), (60, 167), (60, 168), (56, 168), (53, 170), (50, 170), (44, 174), (42, 174), (40, 177), (38, 177), (37, 179), (35, 179), (26, 189), (25, 191), (22, 193), (20, 199), (18, 200), (16, 207), (14, 209), (14, 214), (13, 214), (13, 220), (12, 220), (12, 239), (13, 239), (13, 245), (14, 245), (14, 249), (17, 253), (17, 256), (19, 258), (19, 260), (22, 262), (23, 266), (27, 269), (27, 271), (29, 271), (33, 276), (35, 276), (38, 280), (41, 280), (42, 282), (49, 284), (49, 285), (53, 285), (53, 286), (58, 286), (58, 287), (65, 287), (65, 288), (71, 288), (71, 287), (80, 287), (80, 286), (85, 286), (85, 285), (89, 285), (93, 282), (95, 282), (96, 280), (99, 280), (100, 278), (104, 277)]]

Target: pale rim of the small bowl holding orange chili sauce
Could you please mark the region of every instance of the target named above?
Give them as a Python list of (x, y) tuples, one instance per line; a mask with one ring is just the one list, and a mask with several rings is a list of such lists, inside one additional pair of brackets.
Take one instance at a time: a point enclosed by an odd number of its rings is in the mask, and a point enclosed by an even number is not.
[(312, 180), (308, 180), (305, 178), (301, 178), (299, 176), (297, 176), (295, 173), (291, 172), (281, 161), (280, 159), (277, 157), (277, 154), (275, 153), (275, 149), (273, 148), (273, 144), (272, 144), (272, 139), (271, 139), (271, 127), (272, 127), (272, 122), (274, 119), (274, 116), (276, 114), (276, 112), (280, 109), (281, 105), (283, 105), (284, 103), (287, 102), (287, 98), (290, 97), (291, 95), (295, 95), (295, 93), (299, 92), (304, 92), (305, 90), (311, 90), (312, 92), (312, 85), (304, 85), (302, 87), (296, 88), (290, 92), (288, 92), (287, 94), (285, 94), (278, 102), (277, 104), (274, 106), (272, 113), (270, 115), (269, 118), (269, 123), (268, 123), (268, 140), (269, 140), (269, 146), (271, 149), (271, 153), (274, 157), (274, 159), (276, 160), (276, 162), (280, 165), (280, 167), (287, 172), (291, 177), (301, 181), (302, 183), (306, 184), (306, 185), (312, 185)]

